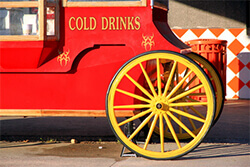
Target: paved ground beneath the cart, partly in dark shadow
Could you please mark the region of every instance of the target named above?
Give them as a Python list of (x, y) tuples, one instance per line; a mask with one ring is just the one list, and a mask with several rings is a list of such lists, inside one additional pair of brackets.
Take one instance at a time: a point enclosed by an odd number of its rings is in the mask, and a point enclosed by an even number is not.
[[(122, 145), (116, 142), (106, 118), (0, 117), (0, 166), (248, 167), (249, 112), (249, 100), (227, 101), (203, 143), (172, 161), (119, 157)], [(80, 143), (70, 144), (72, 138)]]

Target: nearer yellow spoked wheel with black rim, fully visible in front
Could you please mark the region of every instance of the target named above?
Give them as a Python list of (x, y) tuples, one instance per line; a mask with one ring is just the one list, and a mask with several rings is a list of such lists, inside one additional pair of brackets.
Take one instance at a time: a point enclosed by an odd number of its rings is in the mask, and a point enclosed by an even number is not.
[[(156, 65), (156, 88), (146, 69), (152, 62)], [(185, 67), (185, 72), (174, 84), (174, 74), (180, 65)], [(162, 73), (164, 66), (169, 69), (168, 74)], [(199, 83), (188, 86), (188, 80), (193, 77), (199, 79)], [(163, 78), (165, 84), (162, 84)], [(204, 90), (206, 101), (189, 100), (189, 96), (199, 89)], [(185, 97), (187, 99), (183, 101)], [(150, 159), (174, 159), (196, 148), (211, 127), (215, 107), (214, 90), (202, 68), (185, 55), (170, 51), (148, 52), (129, 60), (112, 79), (106, 96), (108, 121), (117, 138), (134, 153)], [(127, 110), (141, 112), (126, 119), (116, 117), (116, 112)], [(144, 118), (142, 122), (141, 118)], [(149, 131), (144, 134), (146, 139), (135, 143), (134, 138), (140, 139), (140, 132), (150, 121)], [(135, 129), (127, 136), (123, 126), (129, 122), (135, 124)], [(157, 137), (153, 137), (155, 127), (159, 127)], [(193, 133), (192, 129), (196, 127), (200, 130)], [(165, 141), (165, 131), (170, 132), (174, 142)], [(177, 135), (180, 131), (188, 133), (192, 140), (180, 142)]]

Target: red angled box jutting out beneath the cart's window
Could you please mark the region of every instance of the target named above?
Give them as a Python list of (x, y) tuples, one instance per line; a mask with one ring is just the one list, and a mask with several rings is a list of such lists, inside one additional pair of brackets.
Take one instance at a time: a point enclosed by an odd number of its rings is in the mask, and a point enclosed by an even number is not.
[(1, 72), (35, 72), (58, 55), (56, 41), (0, 41)]

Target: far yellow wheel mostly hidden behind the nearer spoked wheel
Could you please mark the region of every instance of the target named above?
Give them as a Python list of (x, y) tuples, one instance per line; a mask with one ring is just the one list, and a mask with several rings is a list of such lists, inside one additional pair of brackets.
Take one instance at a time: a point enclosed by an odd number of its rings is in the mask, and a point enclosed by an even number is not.
[[(217, 72), (217, 70), (215, 69), (215, 67), (204, 57), (196, 54), (196, 53), (189, 53), (186, 56), (188, 56), (189, 58), (191, 58), (192, 60), (196, 61), (207, 73), (207, 75), (210, 78), (210, 81), (212, 82), (213, 88), (215, 90), (215, 95), (216, 95), (216, 112), (215, 112), (215, 117), (213, 120), (213, 125), (218, 121), (223, 106), (224, 106), (224, 100), (225, 100), (225, 94), (224, 94), (224, 89), (223, 89), (223, 84), (222, 84), (222, 80), (220, 78), (219, 73)], [(175, 76), (177, 75), (181, 75), (178, 73), (178, 71), (181, 70), (176, 70), (175, 72)], [(177, 74), (178, 73), (178, 74)], [(178, 82), (178, 78), (175, 79), (176, 82)], [(192, 82), (199, 82), (197, 81), (197, 79), (193, 79), (192, 81), (189, 82), (189, 85), (192, 84)], [(198, 102), (197, 99), (204, 99), (204, 92), (196, 92), (196, 94), (193, 94), (192, 96), (189, 96), (188, 99), (193, 101), (193, 102)], [(184, 97), (181, 99), (182, 101), (187, 101), (187, 97)], [(190, 106), (191, 107), (191, 106)], [(193, 107), (193, 106), (192, 106)], [(187, 109), (183, 108), (183, 110), (188, 111)], [(148, 127), (150, 127), (152, 124), (152, 122), (148, 123)], [(200, 128), (199, 127), (195, 127), (192, 129), (192, 132), (194, 134), (197, 134), (199, 132)], [(156, 134), (159, 134), (159, 127), (155, 127), (154, 132)], [(173, 139), (173, 136), (171, 135), (170, 131), (165, 131), (164, 132), (165, 138), (168, 139)], [(192, 138), (192, 136), (190, 136), (188, 133), (183, 133), (180, 130), (180, 133), (177, 134), (179, 139), (190, 139)]]

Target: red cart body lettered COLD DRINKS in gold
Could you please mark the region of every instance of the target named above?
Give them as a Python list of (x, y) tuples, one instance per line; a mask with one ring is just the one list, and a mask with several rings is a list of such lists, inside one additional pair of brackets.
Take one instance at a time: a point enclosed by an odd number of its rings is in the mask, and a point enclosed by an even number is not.
[(188, 48), (169, 29), (167, 9), (145, 3), (63, 7), (59, 2), (58, 40), (1, 41), (1, 109), (13, 115), (104, 111), (108, 85), (127, 60), (151, 50)]

